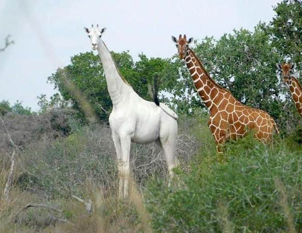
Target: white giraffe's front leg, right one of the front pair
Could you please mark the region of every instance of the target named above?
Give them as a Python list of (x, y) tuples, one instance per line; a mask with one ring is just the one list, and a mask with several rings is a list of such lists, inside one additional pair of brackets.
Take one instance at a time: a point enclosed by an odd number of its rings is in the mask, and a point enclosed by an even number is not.
[(129, 192), (131, 136), (120, 136), (120, 144), (121, 158), (118, 161), (119, 198), (126, 198)]

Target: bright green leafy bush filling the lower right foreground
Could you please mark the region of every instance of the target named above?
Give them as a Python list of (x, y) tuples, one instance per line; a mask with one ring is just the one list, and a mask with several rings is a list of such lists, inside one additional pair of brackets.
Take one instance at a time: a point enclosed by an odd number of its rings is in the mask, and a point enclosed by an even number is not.
[[(208, 136), (206, 133), (204, 134)], [(204, 145), (214, 140), (203, 137)], [(202, 148), (190, 170), (177, 170), (171, 187), (154, 179), (145, 203), (155, 232), (283, 232), (284, 205), (295, 229), (302, 231), (302, 150), (277, 138), (265, 146), (251, 136), (225, 147), (221, 161), (213, 147)], [(287, 203), (282, 203), (281, 181)], [(231, 231), (230, 230), (230, 231)]]

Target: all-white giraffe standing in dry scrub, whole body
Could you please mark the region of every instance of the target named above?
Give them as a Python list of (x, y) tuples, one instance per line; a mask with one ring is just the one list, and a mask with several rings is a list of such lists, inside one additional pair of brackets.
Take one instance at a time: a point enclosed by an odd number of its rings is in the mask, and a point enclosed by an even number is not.
[(98, 50), (104, 68), (107, 88), (113, 109), (109, 116), (112, 139), (117, 152), (120, 198), (128, 196), (131, 142), (149, 144), (156, 142), (164, 149), (169, 177), (177, 165), (174, 150), (177, 142), (178, 116), (165, 104), (150, 102), (137, 95), (120, 75), (110, 52), (101, 40), (106, 28), (84, 28), (93, 50)]

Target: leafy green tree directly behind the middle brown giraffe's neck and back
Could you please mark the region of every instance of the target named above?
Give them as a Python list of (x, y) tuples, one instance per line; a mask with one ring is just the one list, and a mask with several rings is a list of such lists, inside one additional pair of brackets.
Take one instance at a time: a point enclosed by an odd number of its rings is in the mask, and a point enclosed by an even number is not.
[[(271, 46), (264, 27), (264, 24), (259, 24), (254, 32), (234, 30), (218, 40), (206, 37), (200, 43), (196, 41), (193, 50), (216, 82), (229, 89), (235, 98), (279, 118), (282, 100), (275, 73), (279, 54)], [(189, 72), (176, 61), (175, 68), (180, 72), (175, 98), (185, 101), (184, 110), (194, 112), (201, 106), (201, 100)]]

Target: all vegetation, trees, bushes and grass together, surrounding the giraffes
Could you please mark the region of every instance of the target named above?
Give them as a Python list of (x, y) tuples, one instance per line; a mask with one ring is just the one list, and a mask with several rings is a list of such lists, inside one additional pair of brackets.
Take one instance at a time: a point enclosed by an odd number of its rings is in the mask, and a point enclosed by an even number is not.
[[(301, 77), (301, 7), (301, 0), (283, 0), (270, 23), (220, 39), (206, 37), (194, 47), (220, 85), (276, 119), (282, 133), (268, 146), (250, 134), (226, 143), (218, 156), (208, 113), (179, 59), (140, 54), (134, 62), (128, 51), (112, 52), (143, 98), (151, 100), (147, 83), (158, 75), (161, 101), (180, 116), (180, 165), (171, 185), (163, 152), (155, 144), (132, 144), (129, 200), (117, 199), (107, 121), (112, 106), (98, 56), (74, 55), (70, 65), (51, 74), (49, 82), (59, 93), (50, 100), (39, 96), (37, 113), (20, 101), (2, 100), (0, 232), (302, 232), (302, 121), (275, 74), (275, 63), (289, 59)], [(83, 101), (66, 86), (64, 74), (100, 122), (86, 121)], [(12, 152), (17, 169), (6, 202)], [(90, 201), (93, 210), (87, 212)]]

